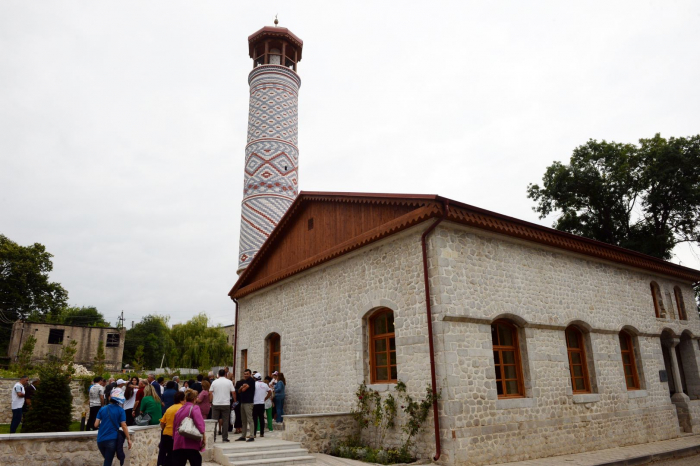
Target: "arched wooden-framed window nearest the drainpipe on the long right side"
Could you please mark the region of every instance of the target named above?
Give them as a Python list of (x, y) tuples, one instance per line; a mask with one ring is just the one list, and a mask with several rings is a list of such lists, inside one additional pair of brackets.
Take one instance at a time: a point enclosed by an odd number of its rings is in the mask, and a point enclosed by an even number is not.
[(493, 360), (496, 365), (496, 392), (499, 398), (525, 396), (520, 363), (518, 328), (505, 320), (491, 324)]

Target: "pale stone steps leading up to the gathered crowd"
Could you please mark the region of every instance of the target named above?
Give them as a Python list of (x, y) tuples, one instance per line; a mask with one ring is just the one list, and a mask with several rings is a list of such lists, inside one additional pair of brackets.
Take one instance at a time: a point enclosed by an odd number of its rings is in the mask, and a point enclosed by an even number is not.
[(223, 466), (282, 466), (316, 462), (316, 458), (301, 448), (299, 442), (260, 437), (254, 442), (235, 442), (235, 437), (231, 437), (230, 443), (214, 444), (214, 461)]

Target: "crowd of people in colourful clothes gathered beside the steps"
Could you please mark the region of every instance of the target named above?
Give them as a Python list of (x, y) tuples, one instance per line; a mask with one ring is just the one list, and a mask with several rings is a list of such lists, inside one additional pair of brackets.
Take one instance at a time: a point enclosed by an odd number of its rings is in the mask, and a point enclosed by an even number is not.
[[(24, 387), (26, 380), (22, 380)], [(205, 419), (218, 421), (222, 442), (230, 441), (230, 432), (240, 434), (236, 441), (253, 442), (258, 433), (264, 437), (266, 429), (273, 431), (274, 422), (283, 422), (285, 387), (281, 372), (263, 380), (262, 374), (249, 369), (235, 384), (228, 368), (216, 376), (212, 372), (206, 377), (200, 374), (182, 383), (177, 376), (166, 382), (153, 374), (129, 380), (95, 377), (89, 389), (87, 429), (98, 431), (97, 446), (105, 466), (111, 465), (115, 456), (123, 461), (125, 443), (131, 449), (129, 427), (145, 425), (161, 427), (158, 466), (185, 466), (188, 462), (200, 466), (206, 444)], [(19, 392), (17, 396), (25, 397)], [(14, 400), (13, 391), (13, 415)]]

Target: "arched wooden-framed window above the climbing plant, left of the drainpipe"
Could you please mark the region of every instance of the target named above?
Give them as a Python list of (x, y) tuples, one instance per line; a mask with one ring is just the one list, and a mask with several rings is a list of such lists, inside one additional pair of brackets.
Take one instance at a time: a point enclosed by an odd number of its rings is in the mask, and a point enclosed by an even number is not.
[(369, 366), (371, 383), (397, 381), (394, 313), (378, 311), (369, 319)]

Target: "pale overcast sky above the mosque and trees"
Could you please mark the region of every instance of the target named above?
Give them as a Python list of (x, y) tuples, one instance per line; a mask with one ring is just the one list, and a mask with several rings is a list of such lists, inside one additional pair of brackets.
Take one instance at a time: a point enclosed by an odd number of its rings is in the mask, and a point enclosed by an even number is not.
[(526, 187), (552, 161), (700, 132), (700, 2), (0, 0), (0, 233), (46, 245), (72, 305), (233, 323), (247, 37), (276, 13), (302, 190), (551, 226)]

